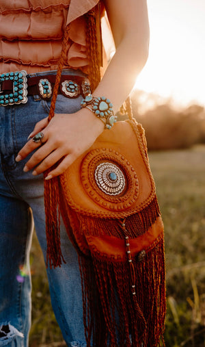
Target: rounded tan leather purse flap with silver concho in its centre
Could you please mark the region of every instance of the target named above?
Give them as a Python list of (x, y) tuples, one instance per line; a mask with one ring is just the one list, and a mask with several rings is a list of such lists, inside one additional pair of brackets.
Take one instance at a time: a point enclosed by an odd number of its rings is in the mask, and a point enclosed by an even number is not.
[(81, 214), (124, 218), (150, 204), (155, 186), (141, 125), (117, 122), (60, 176), (60, 194)]

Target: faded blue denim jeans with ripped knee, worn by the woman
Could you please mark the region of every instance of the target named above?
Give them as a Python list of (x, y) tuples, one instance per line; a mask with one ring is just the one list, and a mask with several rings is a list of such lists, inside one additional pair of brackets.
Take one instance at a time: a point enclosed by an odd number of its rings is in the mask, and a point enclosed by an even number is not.
[[(67, 73), (83, 75), (73, 70)], [(77, 112), (81, 99), (81, 96), (68, 99), (58, 95), (55, 112)], [(29, 251), (33, 220), (46, 259), (42, 175), (33, 177), (31, 172), (23, 172), (27, 159), (16, 163), (15, 157), (36, 123), (48, 116), (49, 105), (50, 102), (31, 96), (26, 104), (0, 107), (0, 346), (28, 346), (31, 324)], [(86, 346), (77, 253), (63, 225), (61, 248), (66, 264), (47, 269), (53, 310), (66, 344)], [(23, 280), (19, 276), (22, 267), (27, 269)]]

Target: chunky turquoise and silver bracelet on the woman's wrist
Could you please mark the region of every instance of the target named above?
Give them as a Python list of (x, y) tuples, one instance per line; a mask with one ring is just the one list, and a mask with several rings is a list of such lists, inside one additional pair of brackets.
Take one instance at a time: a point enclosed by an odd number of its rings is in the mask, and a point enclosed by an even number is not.
[(105, 129), (111, 129), (117, 120), (117, 116), (113, 113), (113, 104), (106, 97), (93, 97), (92, 94), (87, 95), (81, 101), (81, 107), (86, 107), (102, 120)]

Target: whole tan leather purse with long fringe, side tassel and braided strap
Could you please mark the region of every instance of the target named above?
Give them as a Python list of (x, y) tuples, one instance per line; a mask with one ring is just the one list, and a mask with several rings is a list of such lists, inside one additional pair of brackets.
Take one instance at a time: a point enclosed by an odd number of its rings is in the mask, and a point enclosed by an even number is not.
[(87, 347), (163, 343), (163, 222), (141, 125), (103, 131), (44, 191), (50, 266), (63, 259), (59, 214), (79, 255)]

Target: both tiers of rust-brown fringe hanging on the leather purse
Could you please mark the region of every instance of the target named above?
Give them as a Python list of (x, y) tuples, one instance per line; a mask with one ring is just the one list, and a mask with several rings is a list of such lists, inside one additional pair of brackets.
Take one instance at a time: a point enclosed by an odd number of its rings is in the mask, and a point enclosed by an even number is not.
[[(84, 237), (85, 234), (102, 235), (104, 231), (104, 235), (115, 234), (124, 238), (118, 220), (100, 219), (99, 222), (98, 218), (79, 215), (64, 204), (61, 212), (68, 236), (79, 254), (87, 347), (160, 346), (166, 311), (163, 233), (142, 261), (138, 255), (132, 257), (131, 273), (126, 253), (122, 261), (98, 257), (96, 253), (90, 253), (92, 250), (89, 250)], [(143, 235), (159, 215), (154, 198), (140, 214), (131, 216), (129, 220), (126, 218), (126, 235)]]

